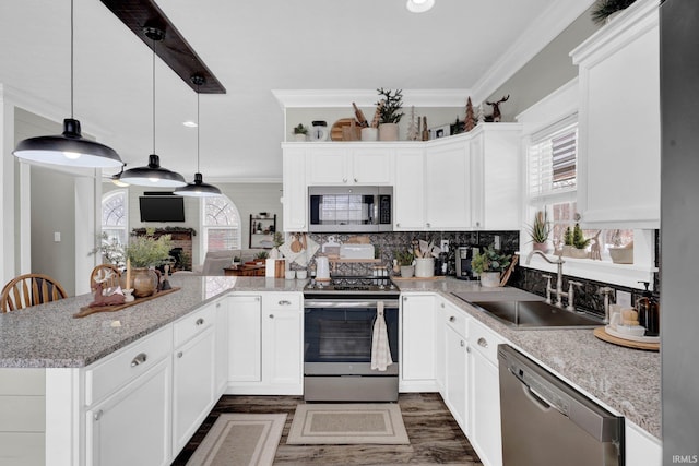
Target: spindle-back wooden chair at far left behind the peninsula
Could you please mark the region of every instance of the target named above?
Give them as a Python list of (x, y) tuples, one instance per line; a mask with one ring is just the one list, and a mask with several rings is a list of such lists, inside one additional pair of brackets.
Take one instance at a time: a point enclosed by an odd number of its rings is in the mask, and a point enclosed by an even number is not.
[(60, 283), (44, 274), (14, 277), (2, 288), (0, 312), (10, 312), (45, 302), (58, 301), (68, 295)]

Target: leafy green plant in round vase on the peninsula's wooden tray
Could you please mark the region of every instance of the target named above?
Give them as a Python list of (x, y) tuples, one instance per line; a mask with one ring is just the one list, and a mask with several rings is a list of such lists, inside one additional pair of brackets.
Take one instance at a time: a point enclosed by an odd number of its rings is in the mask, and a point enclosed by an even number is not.
[(130, 274), (133, 272), (133, 283), (127, 283), (127, 288), (133, 288), (133, 296), (143, 298), (155, 292), (158, 284), (158, 276), (152, 267), (168, 262), (173, 240), (170, 235), (162, 235), (155, 238), (151, 235), (131, 237), (125, 248), (127, 264), (127, 282), (130, 282)]

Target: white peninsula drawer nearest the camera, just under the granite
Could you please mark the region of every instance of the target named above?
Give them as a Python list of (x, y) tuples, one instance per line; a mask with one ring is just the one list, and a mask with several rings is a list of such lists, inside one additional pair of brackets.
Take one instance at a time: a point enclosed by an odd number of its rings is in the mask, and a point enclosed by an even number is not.
[(171, 353), (173, 327), (167, 325), (95, 362), (85, 371), (85, 404), (90, 406), (104, 398)]

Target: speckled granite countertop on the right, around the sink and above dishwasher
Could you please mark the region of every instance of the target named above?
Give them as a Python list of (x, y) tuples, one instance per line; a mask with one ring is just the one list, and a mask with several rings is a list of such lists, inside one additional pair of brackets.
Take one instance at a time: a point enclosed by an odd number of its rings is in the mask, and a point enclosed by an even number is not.
[(540, 296), (517, 288), (483, 288), (473, 282), (398, 282), (401, 292), (438, 292), (569, 384), (597, 398), (656, 438), (661, 438), (660, 354), (602, 342), (592, 330), (511, 330), (451, 295), (473, 292), (478, 300)]

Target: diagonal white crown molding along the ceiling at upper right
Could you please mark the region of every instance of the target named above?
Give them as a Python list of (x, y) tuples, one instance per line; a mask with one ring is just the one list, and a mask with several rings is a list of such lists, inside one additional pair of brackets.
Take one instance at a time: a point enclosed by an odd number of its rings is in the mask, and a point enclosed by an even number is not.
[[(473, 86), (473, 101), (483, 101), (517, 73), (566, 27), (584, 13), (594, 0), (556, 0), (520, 36)], [(592, 20), (591, 20), (592, 21)]]

